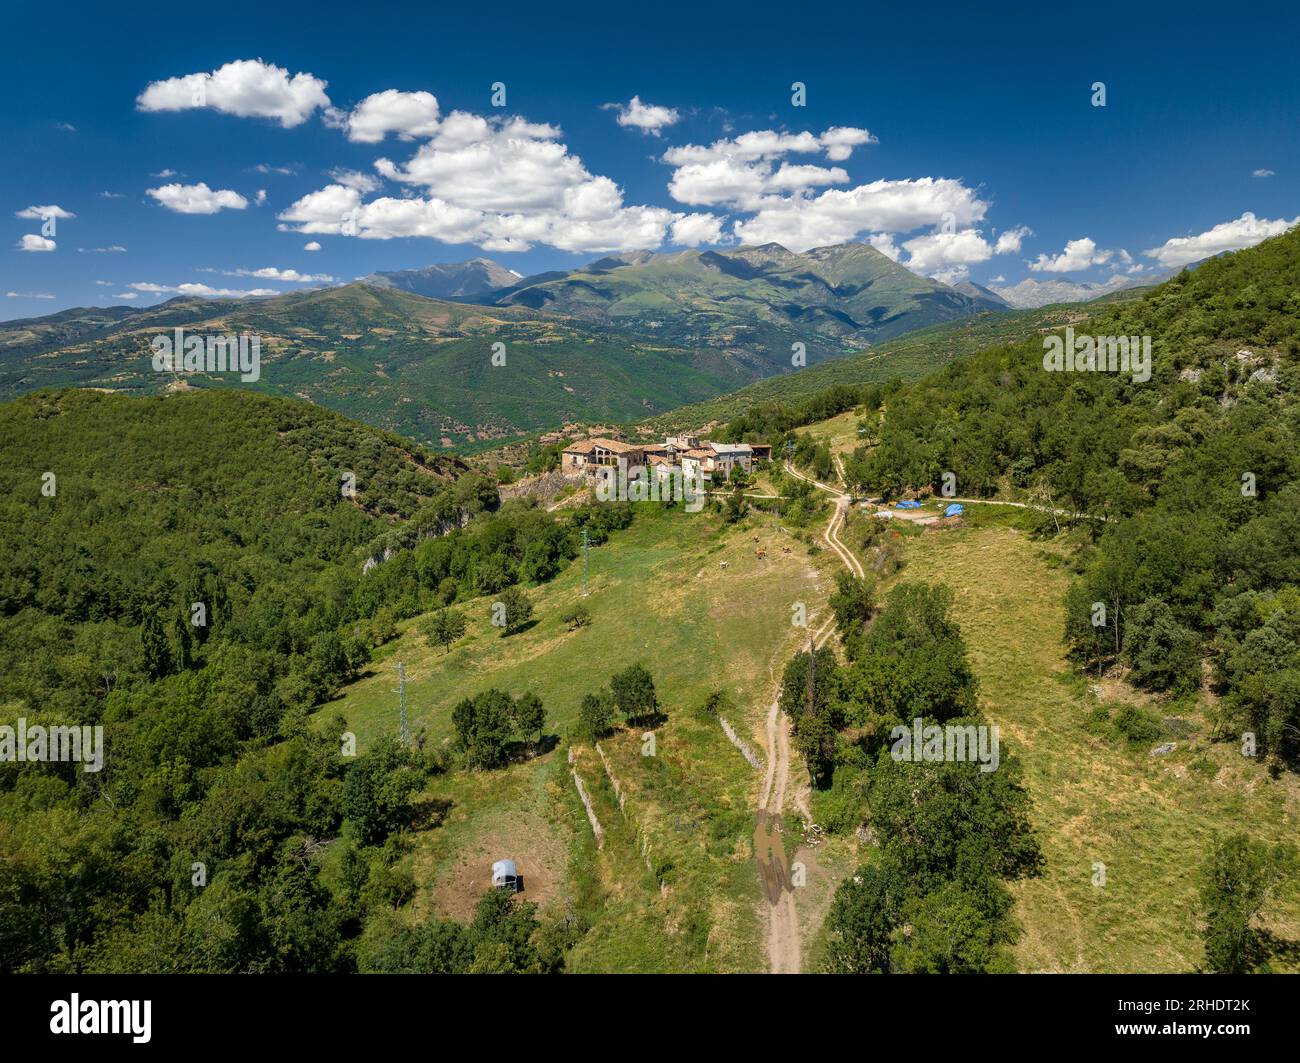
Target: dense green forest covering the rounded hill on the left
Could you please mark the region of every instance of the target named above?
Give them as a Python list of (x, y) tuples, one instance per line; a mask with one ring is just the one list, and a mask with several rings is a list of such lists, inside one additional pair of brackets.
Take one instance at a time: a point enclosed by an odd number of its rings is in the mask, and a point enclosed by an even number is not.
[(619, 507), (497, 508), (455, 459), (235, 391), (36, 394), (0, 441), (0, 724), (105, 736), (101, 771), (0, 763), (0, 968), (403, 969), (421, 934), (554, 968), (526, 907), (399, 933), (396, 832), (445, 754), (348, 756), (308, 716), (399, 620), (549, 578)]

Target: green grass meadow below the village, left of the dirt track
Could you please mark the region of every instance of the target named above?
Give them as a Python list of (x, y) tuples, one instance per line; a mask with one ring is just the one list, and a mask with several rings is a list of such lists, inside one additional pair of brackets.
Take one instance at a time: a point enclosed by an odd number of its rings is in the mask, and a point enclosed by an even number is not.
[[(521, 862), (529, 899), (576, 910), (592, 924), (569, 956), (572, 971), (762, 971), (751, 849), (760, 778), (697, 708), (711, 690), (729, 690), (732, 725), (760, 749), (772, 669), (802, 635), (790, 626), (792, 604), (805, 600), (818, 616), (828, 581), (774, 517), (755, 513), (728, 528), (707, 511), (641, 509), (629, 529), (592, 551), (582, 599), (590, 625), (569, 632), (559, 621), (581, 599), (577, 561), (528, 590), (537, 622), (507, 638), (490, 626), (486, 598), (459, 607), (469, 630), (448, 654), (425, 643), (417, 620), (406, 622), (370, 673), (318, 716), (342, 713), (363, 752), (377, 734), (395, 732), (398, 660), (412, 733), (422, 729), (434, 743), (450, 739), (460, 698), (489, 686), (536, 691), (558, 747), (498, 772), (436, 777), (421, 795), (441, 819), (413, 833), (411, 915), (462, 916), (486, 888), (491, 859), (510, 855)], [(654, 676), (667, 721), (654, 729), (654, 756), (642, 756), (640, 728), (602, 742), (623, 785), (623, 811), (595, 751), (576, 747), (606, 830), (597, 852), (566, 743), (581, 697), (636, 660)], [(540, 890), (529, 888), (529, 865)]]

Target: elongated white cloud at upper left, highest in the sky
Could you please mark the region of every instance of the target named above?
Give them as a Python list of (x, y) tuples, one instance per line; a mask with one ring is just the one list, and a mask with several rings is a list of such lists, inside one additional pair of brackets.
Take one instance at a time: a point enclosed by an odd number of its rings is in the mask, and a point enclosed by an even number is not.
[(140, 110), (211, 108), (240, 118), (274, 118), (285, 129), (306, 122), (329, 107), (326, 83), (312, 74), (294, 74), (260, 58), (228, 62), (211, 74), (186, 74), (148, 84), (135, 105)]

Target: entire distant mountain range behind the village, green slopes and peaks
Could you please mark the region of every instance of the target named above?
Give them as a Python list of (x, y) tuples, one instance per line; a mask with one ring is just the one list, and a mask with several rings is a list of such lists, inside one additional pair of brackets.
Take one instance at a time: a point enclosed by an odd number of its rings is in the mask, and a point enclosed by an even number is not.
[(636, 252), (529, 278), (474, 259), (261, 299), (4, 322), (0, 399), (231, 385), (156, 372), (150, 343), (176, 327), (248, 333), (261, 373), (239, 386), (472, 451), (567, 421), (640, 421), (991, 311), (1006, 312), (997, 294), (919, 277), (857, 243)]

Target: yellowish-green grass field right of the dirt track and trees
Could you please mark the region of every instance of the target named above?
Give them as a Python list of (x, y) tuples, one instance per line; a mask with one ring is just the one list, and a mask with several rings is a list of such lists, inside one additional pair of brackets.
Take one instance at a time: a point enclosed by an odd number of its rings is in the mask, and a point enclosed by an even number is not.
[[(1013, 884), (1020, 969), (1192, 971), (1202, 958), (1196, 876), (1213, 839), (1238, 830), (1294, 839), (1300, 782), (1270, 780), (1235, 746), (1208, 741), (1197, 706), (1179, 706), (1197, 730), (1167, 756), (1089, 733), (1084, 720), (1098, 698), (1069, 667), (1061, 639), (1069, 576), (998, 519), (909, 539), (897, 578), (953, 589), (984, 712), (1026, 769), (1046, 865)], [(1100, 689), (1112, 710), (1143, 700), (1122, 684)], [(1092, 884), (1097, 863), (1102, 888)], [(1270, 911), (1268, 929), (1300, 938), (1300, 884)], [(1294, 969), (1295, 951), (1277, 966)]]

